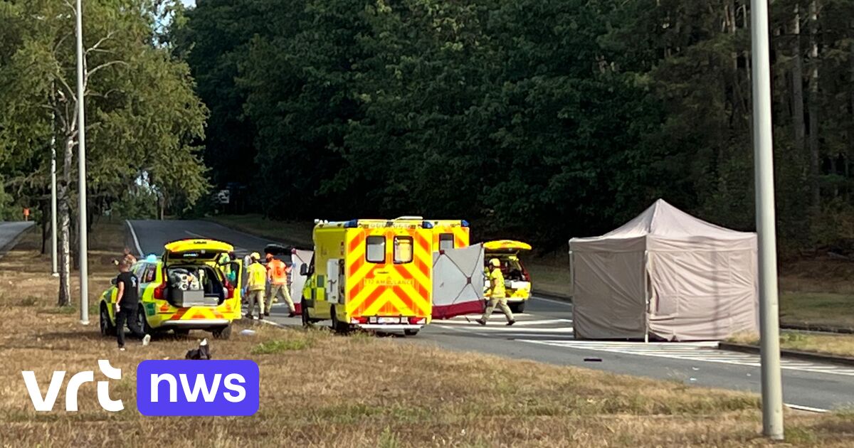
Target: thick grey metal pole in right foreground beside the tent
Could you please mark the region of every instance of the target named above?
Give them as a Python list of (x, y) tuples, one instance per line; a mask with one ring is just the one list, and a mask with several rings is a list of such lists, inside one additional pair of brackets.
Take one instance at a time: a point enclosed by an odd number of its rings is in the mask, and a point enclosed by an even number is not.
[(756, 228), (759, 237), (759, 328), (762, 346), (762, 426), (783, 439), (780, 322), (774, 216), (774, 151), (771, 140), (771, 71), (768, 0), (751, 0), (753, 74), (753, 164), (756, 171)]

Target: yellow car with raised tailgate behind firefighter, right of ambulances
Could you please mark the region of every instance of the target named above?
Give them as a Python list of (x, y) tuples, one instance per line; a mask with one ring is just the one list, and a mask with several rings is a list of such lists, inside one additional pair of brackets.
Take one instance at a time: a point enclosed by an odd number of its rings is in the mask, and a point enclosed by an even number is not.
[(483, 261), (488, 264), (490, 259), (498, 259), (501, 263), (507, 305), (513, 312), (524, 311), (525, 303), (531, 296), (531, 276), (519, 259), (520, 252), (529, 250), (530, 245), (522, 241), (498, 240), (483, 243)]

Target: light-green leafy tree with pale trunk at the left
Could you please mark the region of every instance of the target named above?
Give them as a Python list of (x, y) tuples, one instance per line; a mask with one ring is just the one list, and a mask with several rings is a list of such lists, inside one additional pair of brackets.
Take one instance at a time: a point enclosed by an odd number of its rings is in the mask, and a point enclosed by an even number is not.
[[(77, 92), (71, 3), (7, 2), (19, 24), (4, 64), (0, 96), (14, 110), (5, 148), (42, 163), (24, 179), (45, 184), (45, 148), (56, 132), (61, 154), (58, 183), (59, 305), (69, 305), (74, 213), (73, 164), (78, 144)], [(194, 94), (188, 67), (154, 44), (159, 4), (148, 0), (85, 2), (85, 102), (89, 194), (108, 205), (147, 173), (168, 197), (196, 201), (207, 181), (194, 146), (203, 137), (205, 108)], [(29, 18), (35, 17), (37, 20)], [(5, 149), (4, 148), (4, 149)], [(3, 151), (0, 150), (0, 153)], [(21, 176), (19, 171), (19, 177)], [(90, 221), (91, 222), (91, 221)]]

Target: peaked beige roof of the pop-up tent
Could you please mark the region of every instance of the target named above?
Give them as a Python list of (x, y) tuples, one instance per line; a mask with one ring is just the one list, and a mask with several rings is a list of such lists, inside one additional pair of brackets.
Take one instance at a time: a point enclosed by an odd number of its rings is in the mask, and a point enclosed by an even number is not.
[(719, 225), (707, 223), (671, 206), (667, 201), (659, 199), (628, 223), (603, 236), (573, 238), (571, 241), (601, 241), (640, 236), (659, 236), (664, 239), (678, 240), (697, 237), (714, 240), (741, 240), (754, 238), (756, 234), (729, 230)]

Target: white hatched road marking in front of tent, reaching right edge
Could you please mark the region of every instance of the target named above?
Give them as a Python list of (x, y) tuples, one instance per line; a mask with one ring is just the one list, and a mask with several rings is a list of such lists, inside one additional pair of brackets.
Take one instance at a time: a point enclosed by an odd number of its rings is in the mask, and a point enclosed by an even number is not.
[[(614, 342), (597, 340), (519, 339), (519, 341), (544, 346), (592, 350), (595, 352), (611, 352), (636, 356), (682, 359), (687, 361), (734, 364), (749, 367), (759, 367), (760, 365), (760, 359), (757, 355), (713, 350), (713, 348), (717, 346), (717, 342), (651, 342), (645, 344), (643, 342)], [(854, 376), (854, 368), (845, 368), (832, 364), (815, 364), (788, 359), (781, 360), (781, 368), (810, 373)]]

